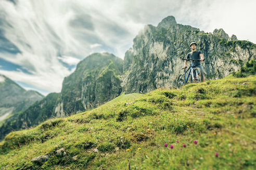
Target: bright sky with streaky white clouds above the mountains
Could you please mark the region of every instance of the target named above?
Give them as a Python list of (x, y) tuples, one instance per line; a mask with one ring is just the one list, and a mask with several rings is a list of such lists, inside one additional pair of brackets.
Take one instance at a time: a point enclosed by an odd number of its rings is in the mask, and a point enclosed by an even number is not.
[(254, 0), (0, 0), (0, 74), (27, 90), (60, 92), (87, 55), (107, 51), (123, 59), (144, 25), (167, 16), (255, 44), (255, 7)]

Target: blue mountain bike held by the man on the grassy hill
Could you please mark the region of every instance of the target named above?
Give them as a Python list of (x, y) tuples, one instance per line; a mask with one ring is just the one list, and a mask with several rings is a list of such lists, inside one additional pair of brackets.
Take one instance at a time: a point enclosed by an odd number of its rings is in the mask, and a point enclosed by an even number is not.
[[(184, 86), (187, 83), (199, 83), (199, 82), (203, 82), (203, 73), (201, 71), (200, 68), (198, 68), (197, 66), (192, 66), (192, 63), (194, 61), (200, 61), (200, 60), (196, 60), (196, 59), (182, 59), (182, 60), (187, 60), (187, 61), (192, 61), (190, 62), (190, 66), (188, 67), (188, 69), (186, 70), (186, 68), (182, 68), (184, 69), (184, 74), (181, 74), (178, 76), (177, 78), (177, 87), (180, 88), (182, 86)], [(204, 59), (203, 59), (204, 61)], [(187, 76), (186, 73), (188, 72)], [(194, 75), (194, 76), (193, 76)]]

